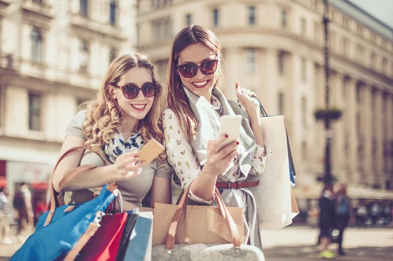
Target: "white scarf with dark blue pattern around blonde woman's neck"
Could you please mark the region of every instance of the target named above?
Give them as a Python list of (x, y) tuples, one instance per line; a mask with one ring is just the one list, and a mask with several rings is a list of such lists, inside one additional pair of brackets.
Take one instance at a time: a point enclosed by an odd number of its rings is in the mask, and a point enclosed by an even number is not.
[(133, 132), (130, 138), (128, 138), (125, 142), (123, 135), (115, 132), (112, 137), (112, 141), (104, 144), (104, 146), (102, 146), (102, 150), (107, 156), (107, 159), (112, 163), (115, 163), (118, 156), (126, 152), (139, 150), (143, 146), (143, 143), (144, 141), (142, 140), (140, 131)]

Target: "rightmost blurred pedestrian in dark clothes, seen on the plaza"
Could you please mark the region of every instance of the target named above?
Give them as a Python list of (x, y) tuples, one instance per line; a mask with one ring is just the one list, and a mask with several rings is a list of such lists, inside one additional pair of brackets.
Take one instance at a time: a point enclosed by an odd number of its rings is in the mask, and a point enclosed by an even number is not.
[(340, 187), (336, 193), (336, 221), (338, 234), (338, 255), (344, 256), (345, 253), (342, 250), (342, 237), (345, 228), (349, 223), (354, 224), (354, 216), (352, 212), (351, 200), (347, 195), (346, 187), (344, 184), (340, 184)]

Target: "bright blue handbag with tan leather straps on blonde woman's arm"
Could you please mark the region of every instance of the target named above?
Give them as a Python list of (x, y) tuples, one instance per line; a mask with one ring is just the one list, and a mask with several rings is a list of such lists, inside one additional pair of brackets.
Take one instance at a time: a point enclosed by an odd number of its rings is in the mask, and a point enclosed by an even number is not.
[[(75, 168), (60, 181), (59, 193), (53, 187), (53, 175), (59, 162), (68, 153), (78, 149), (92, 150), (85, 146), (74, 147), (58, 159), (50, 184), (50, 210), (39, 217), (35, 232), (28, 237), (10, 260), (74, 260), (90, 237), (99, 229), (105, 211), (118, 194), (114, 183), (105, 185), (101, 193), (90, 201), (61, 206), (64, 186), (84, 170), (94, 168), (94, 166), (86, 165)], [(100, 153), (96, 153), (107, 164), (105, 158)]]

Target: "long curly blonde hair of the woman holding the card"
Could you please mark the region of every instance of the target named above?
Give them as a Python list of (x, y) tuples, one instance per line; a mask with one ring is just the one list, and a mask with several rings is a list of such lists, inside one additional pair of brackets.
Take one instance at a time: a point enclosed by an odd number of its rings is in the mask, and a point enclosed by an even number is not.
[(154, 138), (161, 144), (164, 144), (161, 119), (162, 86), (155, 77), (155, 66), (148, 57), (143, 53), (135, 52), (123, 54), (114, 59), (97, 95), (82, 105), (87, 109), (87, 117), (82, 125), (86, 137), (86, 142), (84, 143), (86, 146), (100, 149), (104, 144), (111, 141), (115, 132), (121, 133), (123, 112), (117, 101), (111, 97), (109, 86), (117, 85), (120, 76), (134, 67), (142, 67), (149, 70), (153, 82), (158, 84), (153, 105), (146, 117), (139, 121), (136, 130), (140, 130), (144, 141)]

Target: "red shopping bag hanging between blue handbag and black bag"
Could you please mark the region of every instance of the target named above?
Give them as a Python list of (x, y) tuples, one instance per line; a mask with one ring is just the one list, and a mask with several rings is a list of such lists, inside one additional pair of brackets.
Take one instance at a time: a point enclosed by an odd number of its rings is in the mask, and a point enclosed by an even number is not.
[(114, 261), (127, 218), (127, 213), (105, 215), (100, 222), (101, 227), (84, 246), (80, 260)]

